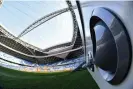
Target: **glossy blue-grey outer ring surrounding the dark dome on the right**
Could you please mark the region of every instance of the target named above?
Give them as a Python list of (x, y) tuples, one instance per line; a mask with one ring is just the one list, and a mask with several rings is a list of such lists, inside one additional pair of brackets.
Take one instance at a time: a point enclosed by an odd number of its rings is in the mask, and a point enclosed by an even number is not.
[[(92, 17), (90, 19), (90, 32), (92, 40), (95, 41), (95, 35), (93, 31), (94, 25), (99, 21), (102, 20), (111, 31), (117, 49), (117, 69), (115, 73), (109, 73), (108, 71), (104, 71), (100, 68), (99, 71), (104, 72), (107, 76), (106, 78), (102, 77), (110, 82), (111, 84), (119, 84), (121, 83), (130, 67), (131, 63), (131, 43), (128, 36), (127, 31), (125, 30), (125, 26), (122, 24), (119, 18), (112, 12), (106, 8), (96, 8), (92, 13)], [(96, 46), (96, 43), (93, 42), (93, 46)], [(93, 47), (93, 53), (95, 55), (95, 47)]]

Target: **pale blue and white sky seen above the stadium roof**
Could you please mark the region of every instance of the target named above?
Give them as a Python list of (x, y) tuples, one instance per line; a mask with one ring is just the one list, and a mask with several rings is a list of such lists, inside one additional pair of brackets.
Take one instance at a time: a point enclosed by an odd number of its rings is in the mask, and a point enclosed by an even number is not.
[[(0, 7), (0, 25), (15, 36), (37, 19), (68, 7), (64, 1), (4, 1)], [(63, 13), (28, 34), (23, 41), (45, 49), (60, 43), (70, 42), (73, 36), (73, 21), (70, 12)]]

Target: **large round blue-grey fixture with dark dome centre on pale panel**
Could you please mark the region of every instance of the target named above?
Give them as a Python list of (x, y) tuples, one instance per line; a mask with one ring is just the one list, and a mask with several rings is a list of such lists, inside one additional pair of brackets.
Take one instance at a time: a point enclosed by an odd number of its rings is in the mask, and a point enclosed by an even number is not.
[(108, 9), (97, 8), (92, 12), (90, 32), (94, 64), (106, 81), (121, 83), (131, 63), (131, 46), (124, 25)]

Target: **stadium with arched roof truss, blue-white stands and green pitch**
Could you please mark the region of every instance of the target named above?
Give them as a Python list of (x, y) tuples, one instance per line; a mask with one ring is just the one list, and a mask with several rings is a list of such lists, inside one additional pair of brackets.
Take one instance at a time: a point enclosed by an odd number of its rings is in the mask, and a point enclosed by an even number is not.
[[(7, 3), (24, 5), (25, 2), (7, 1)], [(88, 80), (92, 88), (97, 87), (87, 70), (83, 68), (84, 45), (74, 12), (77, 6), (72, 6), (71, 2), (65, 2), (65, 4), (68, 4), (68, 7), (36, 19), (18, 36), (9, 32), (3, 24), (0, 25), (0, 86), (2, 89), (80, 89), (79, 84), (86, 89), (90, 85), (84, 84), (84, 81)], [(2, 8), (6, 8), (5, 5), (6, 1)], [(72, 38), (69, 42), (40, 48), (21, 39), (37, 27), (66, 12), (69, 12), (73, 24)], [(90, 43), (91, 41), (88, 45)]]

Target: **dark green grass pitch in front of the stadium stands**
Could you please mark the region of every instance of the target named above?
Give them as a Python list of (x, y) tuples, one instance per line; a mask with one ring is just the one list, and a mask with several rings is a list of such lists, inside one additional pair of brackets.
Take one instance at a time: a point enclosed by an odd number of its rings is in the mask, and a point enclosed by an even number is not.
[(2, 89), (99, 89), (87, 70), (27, 73), (0, 67)]

